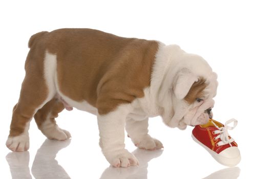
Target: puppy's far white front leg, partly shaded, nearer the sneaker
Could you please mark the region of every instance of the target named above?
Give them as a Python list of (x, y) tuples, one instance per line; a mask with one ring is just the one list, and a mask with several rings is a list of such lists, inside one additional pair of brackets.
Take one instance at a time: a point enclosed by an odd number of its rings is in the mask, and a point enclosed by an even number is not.
[(131, 118), (126, 119), (125, 129), (135, 146), (140, 149), (156, 150), (163, 148), (163, 144), (148, 135), (148, 118), (136, 121)]

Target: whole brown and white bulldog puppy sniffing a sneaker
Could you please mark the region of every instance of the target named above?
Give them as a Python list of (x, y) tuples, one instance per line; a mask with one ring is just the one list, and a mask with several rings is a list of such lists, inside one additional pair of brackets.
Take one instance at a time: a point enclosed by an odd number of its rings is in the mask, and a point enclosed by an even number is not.
[(29, 149), (33, 117), (47, 138), (69, 139), (55, 118), (75, 107), (97, 116), (99, 145), (112, 166), (135, 166), (138, 160), (124, 148), (124, 129), (137, 147), (156, 150), (163, 145), (148, 135), (148, 118), (161, 116), (167, 126), (185, 129), (212, 115), (217, 75), (202, 57), (177, 45), (59, 29), (34, 34), (29, 48), (6, 142), (12, 151)]

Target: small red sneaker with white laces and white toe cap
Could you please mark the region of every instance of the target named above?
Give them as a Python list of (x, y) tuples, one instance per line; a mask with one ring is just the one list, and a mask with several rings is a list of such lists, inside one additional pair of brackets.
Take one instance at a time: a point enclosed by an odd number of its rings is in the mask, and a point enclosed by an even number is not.
[[(228, 126), (233, 122), (233, 127)], [(238, 145), (227, 132), (237, 126), (237, 120), (230, 119), (225, 125), (210, 119), (207, 124), (197, 125), (192, 131), (192, 138), (203, 146), (220, 164), (236, 166), (241, 161)]]

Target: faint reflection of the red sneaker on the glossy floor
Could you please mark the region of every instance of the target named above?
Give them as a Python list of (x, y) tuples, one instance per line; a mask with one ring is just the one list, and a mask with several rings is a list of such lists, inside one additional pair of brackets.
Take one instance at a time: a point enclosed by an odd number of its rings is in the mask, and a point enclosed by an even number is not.
[(211, 173), (209, 176), (203, 179), (236, 179), (240, 175), (239, 167), (225, 168), (214, 173)]

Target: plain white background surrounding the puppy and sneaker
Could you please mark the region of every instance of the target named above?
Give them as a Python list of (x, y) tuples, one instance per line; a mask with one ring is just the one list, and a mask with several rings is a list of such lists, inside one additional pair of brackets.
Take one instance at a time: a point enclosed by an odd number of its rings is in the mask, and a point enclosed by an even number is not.
[[(18, 100), (25, 75), (28, 40), (36, 32), (59, 28), (92, 28), (124, 37), (176, 43), (185, 51), (205, 58), (218, 74), (214, 119), (222, 123), (230, 118), (239, 121), (237, 128), (229, 132), (241, 150), (239, 178), (255, 178), (255, 9), (253, 1), (223, 0), (1, 1), (0, 178), (11, 178), (11, 172), (14, 176), (19, 169), (23, 172), (20, 178), (24, 178), (23, 174), (28, 178), (51, 178), (39, 177), (38, 169), (48, 175), (55, 173), (53, 178), (204, 178), (226, 168), (191, 139), (192, 127), (185, 131), (168, 128), (160, 117), (150, 119), (150, 134), (162, 141), (163, 151), (136, 150), (140, 167), (108, 168), (98, 146), (96, 117), (76, 109), (63, 111), (57, 119), (59, 126), (72, 135), (70, 145), (56, 156), (59, 165), (54, 161), (54, 154), (58, 147), (68, 143), (53, 142), (52, 148), (46, 147), (52, 141), (44, 143), (45, 137), (34, 121), (29, 131), (29, 152), (10, 153), (6, 159), (10, 151), (5, 141), (12, 107)], [(127, 149), (136, 149), (129, 138), (125, 141)], [(41, 162), (40, 158), (45, 161)], [(219, 171), (229, 177), (218, 178), (232, 178), (239, 169)]]

